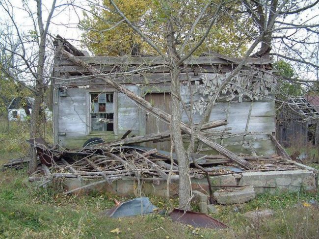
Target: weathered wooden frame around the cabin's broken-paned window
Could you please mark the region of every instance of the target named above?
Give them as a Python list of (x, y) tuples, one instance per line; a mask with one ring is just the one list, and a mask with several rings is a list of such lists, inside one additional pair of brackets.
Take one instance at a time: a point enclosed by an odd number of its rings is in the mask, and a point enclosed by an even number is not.
[[(112, 93), (113, 94), (113, 131), (92, 131), (92, 111), (91, 111), (91, 94), (96, 93)], [(86, 135), (118, 135), (118, 106), (117, 106), (118, 92), (113, 88), (104, 89), (88, 89), (86, 93)]]

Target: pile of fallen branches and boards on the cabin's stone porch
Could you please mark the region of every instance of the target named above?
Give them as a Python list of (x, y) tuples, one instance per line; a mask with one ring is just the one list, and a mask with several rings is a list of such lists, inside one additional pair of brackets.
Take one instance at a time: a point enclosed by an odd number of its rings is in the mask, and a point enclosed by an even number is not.
[[(160, 134), (161, 137), (165, 133)], [(167, 136), (167, 135), (166, 135)], [(29, 178), (30, 181), (44, 180), (50, 182), (54, 178), (86, 178), (101, 179), (84, 187), (102, 183), (111, 183), (123, 177), (132, 180), (177, 180), (178, 162), (174, 153), (157, 149), (134, 146), (132, 143), (153, 140), (159, 134), (135, 136), (111, 143), (102, 143), (83, 148), (79, 151), (59, 151), (50, 148), (42, 138), (28, 140), (37, 149), (39, 156), (38, 170)], [(280, 153), (280, 152), (279, 152)], [(283, 156), (242, 156), (249, 160), (254, 170), (246, 170), (222, 155), (194, 154), (190, 159), (190, 177), (226, 175), (247, 171), (283, 171), (294, 170), (293, 162)], [(15, 159), (3, 168), (16, 169), (27, 165), (27, 160)], [(80, 188), (78, 188), (80, 189)], [(76, 189), (76, 190), (78, 190)], [(67, 192), (70, 193), (73, 190)]]

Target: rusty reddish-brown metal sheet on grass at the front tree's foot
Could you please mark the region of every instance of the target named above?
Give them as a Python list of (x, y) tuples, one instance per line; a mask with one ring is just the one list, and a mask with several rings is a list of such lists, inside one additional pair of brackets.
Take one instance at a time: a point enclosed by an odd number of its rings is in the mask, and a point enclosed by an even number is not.
[(191, 225), (193, 227), (202, 227), (210, 229), (227, 228), (227, 226), (224, 223), (214, 219), (213, 217), (207, 214), (200, 212), (190, 212), (181, 209), (174, 209), (173, 212), (170, 213), (170, 217), (173, 221), (180, 222), (186, 225)]

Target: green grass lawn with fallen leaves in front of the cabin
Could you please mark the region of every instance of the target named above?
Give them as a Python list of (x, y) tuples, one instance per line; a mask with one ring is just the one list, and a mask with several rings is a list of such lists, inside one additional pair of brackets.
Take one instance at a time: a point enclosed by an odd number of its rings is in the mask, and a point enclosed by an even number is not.
[[(110, 219), (101, 212), (114, 206), (114, 198), (121, 201), (128, 198), (97, 192), (65, 196), (58, 183), (46, 189), (30, 184), (26, 169), (0, 173), (0, 238), (318, 239), (319, 235), (319, 209), (307, 203), (310, 199), (319, 202), (319, 193), (262, 194), (246, 204), (217, 206), (219, 212), (213, 217), (230, 228), (205, 230), (174, 223), (158, 213)], [(178, 202), (173, 199), (168, 203), (152, 196), (150, 199), (160, 209), (177, 206)], [(234, 207), (239, 212), (234, 212)], [(244, 212), (256, 209), (272, 209), (275, 215), (256, 223), (243, 216)]]

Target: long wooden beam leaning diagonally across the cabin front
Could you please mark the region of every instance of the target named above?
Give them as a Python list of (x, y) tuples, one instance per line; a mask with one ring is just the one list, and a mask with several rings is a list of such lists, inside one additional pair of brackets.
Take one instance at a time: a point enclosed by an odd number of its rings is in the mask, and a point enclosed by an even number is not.
[[(94, 67), (90, 66), (89, 64), (85, 63), (84, 61), (80, 60), (78, 57), (74, 56), (71, 53), (68, 53), (67, 51), (61, 49), (60, 51), (64, 57), (72, 61), (78, 66), (84, 67), (88, 72), (90, 72), (93, 75), (101, 75), (101, 79), (103, 79), (107, 84), (111, 85), (118, 91), (122, 92), (126, 96), (128, 96), (131, 100), (133, 100), (136, 104), (141, 106), (146, 111), (150, 112), (154, 116), (160, 118), (162, 121), (166, 123), (171, 122), (171, 115), (166, 113), (165, 111), (161, 110), (160, 108), (152, 106), (149, 102), (144, 100), (142, 97), (134, 94), (132, 91), (124, 88), (123, 86), (116, 83), (114, 80), (112, 80), (110, 77), (107, 77), (103, 75), (102, 72), (98, 71)], [(181, 130), (189, 135), (191, 135), (191, 129), (183, 122), (180, 122)], [(209, 147), (213, 148), (220, 154), (226, 156), (230, 160), (236, 162), (239, 166), (243, 167), (244, 169), (252, 170), (254, 167), (251, 163), (247, 162), (244, 159), (241, 159), (238, 155), (234, 154), (233, 152), (229, 151), (228, 149), (224, 148), (220, 144), (217, 144), (213, 142), (210, 138), (206, 137), (202, 133), (198, 133), (197, 138), (202, 141), (204, 144), (208, 145)]]

